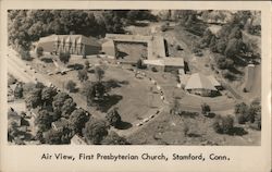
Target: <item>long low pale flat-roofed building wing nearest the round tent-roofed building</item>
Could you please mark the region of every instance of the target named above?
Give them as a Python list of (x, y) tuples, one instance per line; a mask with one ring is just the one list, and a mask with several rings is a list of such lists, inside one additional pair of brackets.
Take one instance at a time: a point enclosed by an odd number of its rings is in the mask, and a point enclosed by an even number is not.
[[(184, 60), (183, 58), (161, 58), (156, 60), (144, 60), (149, 69), (156, 67), (157, 71), (161, 72), (180, 72), (184, 71)], [(185, 72), (183, 72), (185, 73)]]

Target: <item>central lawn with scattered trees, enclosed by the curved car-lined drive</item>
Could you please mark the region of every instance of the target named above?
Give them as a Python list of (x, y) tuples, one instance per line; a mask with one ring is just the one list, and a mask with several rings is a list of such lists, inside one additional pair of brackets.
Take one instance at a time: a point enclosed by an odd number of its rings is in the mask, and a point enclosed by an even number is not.
[[(124, 122), (134, 123), (135, 121), (139, 121), (149, 115), (150, 109), (160, 108), (162, 101), (160, 99), (159, 94), (152, 94), (150, 91), (150, 87), (154, 88), (154, 85), (148, 78), (145, 77), (135, 77), (135, 73), (123, 69), (121, 65), (116, 64), (107, 64), (103, 59), (99, 59), (96, 57), (89, 57), (87, 59), (82, 58), (71, 58), (67, 65), (83, 65), (84, 62), (88, 60), (90, 62), (91, 67), (89, 71), (94, 71), (95, 65), (100, 63), (100, 67), (104, 70), (104, 77), (102, 82), (111, 82), (114, 83), (110, 91), (108, 93), (110, 96), (109, 102), (104, 103), (102, 107), (102, 112), (96, 111), (94, 108), (88, 108), (86, 103), (86, 97), (81, 94), (83, 88), (83, 83), (81, 83), (77, 78), (77, 71), (70, 71), (66, 74), (53, 74), (53, 75), (45, 75), (47, 78), (51, 81), (59, 88), (64, 90), (64, 85), (67, 81), (73, 81), (76, 83), (78, 88), (77, 93), (71, 94), (74, 99), (76, 99), (77, 106), (90, 111), (90, 113), (98, 113), (98, 115), (102, 115), (112, 107), (118, 107), (119, 112)], [(38, 60), (34, 61), (33, 66), (37, 66), (37, 63), (40, 63)], [(42, 62), (44, 63), (44, 62)], [(52, 63), (45, 63), (44, 71), (53, 70)], [(37, 69), (38, 70), (38, 69)], [(97, 81), (95, 74), (92, 72), (88, 72), (88, 81)], [(79, 103), (78, 103), (79, 102)]]

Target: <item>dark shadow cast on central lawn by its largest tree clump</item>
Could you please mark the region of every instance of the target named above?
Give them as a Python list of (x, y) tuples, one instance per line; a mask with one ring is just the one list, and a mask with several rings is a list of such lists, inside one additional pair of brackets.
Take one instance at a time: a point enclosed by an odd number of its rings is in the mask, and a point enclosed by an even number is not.
[(107, 112), (111, 107), (115, 106), (120, 100), (123, 99), (121, 95), (109, 95), (104, 97), (103, 100), (99, 102), (99, 110), (101, 112)]

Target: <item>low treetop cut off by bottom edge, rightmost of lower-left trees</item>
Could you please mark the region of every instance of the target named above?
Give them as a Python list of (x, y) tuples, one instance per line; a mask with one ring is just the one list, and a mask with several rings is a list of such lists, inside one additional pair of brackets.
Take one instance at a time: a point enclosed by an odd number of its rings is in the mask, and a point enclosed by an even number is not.
[(101, 145), (129, 145), (129, 143), (115, 132), (110, 132), (110, 134), (101, 140)]

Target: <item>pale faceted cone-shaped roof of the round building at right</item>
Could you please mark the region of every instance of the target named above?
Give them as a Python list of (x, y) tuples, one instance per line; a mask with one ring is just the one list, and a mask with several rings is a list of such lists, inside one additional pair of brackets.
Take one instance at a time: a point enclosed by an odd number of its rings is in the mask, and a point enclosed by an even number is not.
[(209, 89), (209, 90), (218, 90), (211, 83), (211, 81), (200, 74), (200, 73), (195, 73), (190, 75), (185, 89)]

